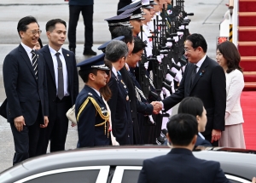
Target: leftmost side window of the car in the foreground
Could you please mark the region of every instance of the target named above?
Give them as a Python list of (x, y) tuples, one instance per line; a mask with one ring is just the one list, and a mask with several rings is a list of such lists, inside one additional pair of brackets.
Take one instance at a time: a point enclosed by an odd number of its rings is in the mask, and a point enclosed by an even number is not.
[(28, 180), (26, 181), (26, 183), (95, 183), (99, 172), (99, 169), (93, 169), (84, 171), (63, 172), (59, 174), (47, 174), (45, 176), (38, 177), (33, 180)]

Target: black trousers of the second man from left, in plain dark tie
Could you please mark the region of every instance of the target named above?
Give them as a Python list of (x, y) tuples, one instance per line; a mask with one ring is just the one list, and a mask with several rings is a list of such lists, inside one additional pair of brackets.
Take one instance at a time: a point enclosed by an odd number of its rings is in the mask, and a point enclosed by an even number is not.
[[(66, 112), (72, 106), (71, 103), (71, 96), (65, 96), (62, 100), (55, 100), (54, 110), (51, 110), (49, 112), (48, 127), (40, 129), (37, 155), (42, 155), (47, 152), (49, 140), (50, 152), (65, 150), (68, 129), (68, 119), (66, 116)], [(52, 109), (52, 107), (49, 107), (49, 109)]]

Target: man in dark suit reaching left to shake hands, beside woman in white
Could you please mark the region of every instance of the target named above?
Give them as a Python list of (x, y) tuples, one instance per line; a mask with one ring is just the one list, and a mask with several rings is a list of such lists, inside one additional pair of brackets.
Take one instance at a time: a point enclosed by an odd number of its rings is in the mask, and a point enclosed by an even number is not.
[(224, 70), (207, 56), (207, 42), (201, 34), (192, 34), (185, 42), (185, 55), (189, 63), (177, 91), (162, 100), (165, 111), (187, 96), (196, 96), (207, 110), (207, 127), (202, 133), (212, 146), (218, 146), (224, 131), (226, 83)]

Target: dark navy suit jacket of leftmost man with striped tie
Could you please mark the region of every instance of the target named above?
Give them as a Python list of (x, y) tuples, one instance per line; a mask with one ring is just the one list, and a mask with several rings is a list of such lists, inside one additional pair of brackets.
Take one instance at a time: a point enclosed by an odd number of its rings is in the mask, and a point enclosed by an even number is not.
[[(7, 96), (6, 116), (9, 123), (23, 116), (27, 126), (36, 122), (39, 105), (43, 116), (49, 115), (47, 79), (43, 54), (38, 53), (38, 80), (26, 50), (20, 44), (3, 61), (3, 83)], [(44, 123), (44, 118), (40, 123)]]

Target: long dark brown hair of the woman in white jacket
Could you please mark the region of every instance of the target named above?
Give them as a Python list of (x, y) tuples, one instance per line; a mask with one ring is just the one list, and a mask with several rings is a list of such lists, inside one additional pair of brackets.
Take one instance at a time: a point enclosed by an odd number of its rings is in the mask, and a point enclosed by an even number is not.
[(218, 44), (217, 49), (223, 55), (224, 59), (227, 60), (227, 73), (236, 69), (242, 72), (241, 66), (239, 66), (241, 56), (234, 43), (225, 41), (224, 43)]

